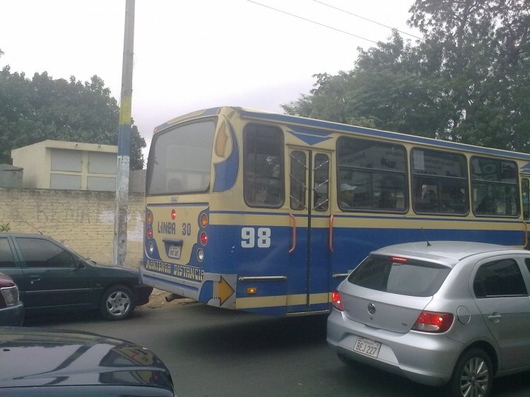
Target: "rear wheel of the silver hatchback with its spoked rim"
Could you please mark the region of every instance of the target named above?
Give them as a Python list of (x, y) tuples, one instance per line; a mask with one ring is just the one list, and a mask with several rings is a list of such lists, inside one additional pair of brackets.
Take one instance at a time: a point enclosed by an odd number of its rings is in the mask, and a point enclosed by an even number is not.
[(488, 354), (482, 349), (464, 352), (454, 366), (453, 375), (447, 389), (453, 397), (487, 397), (493, 382), (493, 365)]

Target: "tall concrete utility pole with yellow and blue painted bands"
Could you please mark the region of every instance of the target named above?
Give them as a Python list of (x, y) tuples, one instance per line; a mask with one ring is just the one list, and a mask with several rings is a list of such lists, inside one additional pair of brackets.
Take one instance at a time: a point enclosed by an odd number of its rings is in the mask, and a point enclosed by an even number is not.
[(132, 68), (134, 56), (134, 0), (125, 3), (122, 99), (119, 107), (116, 212), (114, 213), (114, 264), (124, 266), (127, 253), (127, 206), (131, 155)]

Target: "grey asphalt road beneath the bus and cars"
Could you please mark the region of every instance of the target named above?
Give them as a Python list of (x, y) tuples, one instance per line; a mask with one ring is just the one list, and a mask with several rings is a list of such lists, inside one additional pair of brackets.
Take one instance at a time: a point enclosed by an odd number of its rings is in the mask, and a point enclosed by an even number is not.
[[(179, 397), (442, 396), (391, 374), (343, 365), (326, 345), (326, 316), (272, 318), (176, 301), (151, 306), (127, 321), (80, 313), (28, 325), (145, 345), (169, 367)], [(529, 374), (496, 380), (493, 396), (530, 396)]]

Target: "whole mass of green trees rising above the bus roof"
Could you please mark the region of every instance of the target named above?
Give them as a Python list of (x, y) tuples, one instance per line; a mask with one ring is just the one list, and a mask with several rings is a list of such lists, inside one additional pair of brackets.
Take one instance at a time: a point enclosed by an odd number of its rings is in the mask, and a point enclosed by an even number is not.
[(353, 70), (315, 75), (288, 114), (530, 150), (530, 0), (416, 0), (416, 45), (394, 31)]

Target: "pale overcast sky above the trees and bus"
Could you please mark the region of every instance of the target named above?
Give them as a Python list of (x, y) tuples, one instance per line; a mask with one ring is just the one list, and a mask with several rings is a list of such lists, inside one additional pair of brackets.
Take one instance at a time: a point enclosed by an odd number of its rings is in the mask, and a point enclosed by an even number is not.
[[(406, 25), (412, 4), (136, 0), (134, 122), (149, 144), (155, 126), (198, 109), (230, 105), (281, 113), (281, 104), (309, 93), (314, 73), (349, 71), (357, 47), (387, 41), (391, 30), (382, 25), (418, 35)], [(0, 67), (28, 78), (43, 71), (80, 81), (98, 75), (119, 102), (124, 17), (125, 0), (2, 1)]]

